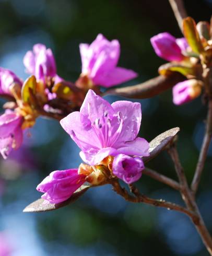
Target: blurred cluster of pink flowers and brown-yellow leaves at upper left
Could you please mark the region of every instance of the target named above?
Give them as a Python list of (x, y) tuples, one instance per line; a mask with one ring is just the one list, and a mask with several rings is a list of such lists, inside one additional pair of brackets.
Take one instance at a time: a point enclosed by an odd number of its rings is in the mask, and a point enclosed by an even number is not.
[(0, 152), (5, 159), (21, 145), (23, 130), (33, 126), (39, 115), (56, 114), (62, 119), (80, 108), (89, 88), (109, 87), (137, 76), (116, 66), (120, 56), (117, 40), (110, 42), (99, 34), (90, 45), (80, 44), (79, 48), (82, 72), (75, 84), (57, 75), (52, 50), (40, 43), (23, 57), (26, 72), (31, 75), (25, 82), (0, 67), (0, 96), (10, 100), (0, 117)]

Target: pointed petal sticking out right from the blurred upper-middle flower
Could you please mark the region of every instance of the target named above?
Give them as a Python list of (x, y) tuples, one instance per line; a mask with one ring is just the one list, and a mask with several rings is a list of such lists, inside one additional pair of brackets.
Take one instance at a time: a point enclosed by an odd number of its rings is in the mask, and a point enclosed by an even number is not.
[(131, 69), (115, 67), (108, 73), (98, 74), (95, 78), (93, 78), (93, 83), (96, 85), (111, 87), (127, 82), (128, 80), (134, 79), (137, 76), (138, 74)]

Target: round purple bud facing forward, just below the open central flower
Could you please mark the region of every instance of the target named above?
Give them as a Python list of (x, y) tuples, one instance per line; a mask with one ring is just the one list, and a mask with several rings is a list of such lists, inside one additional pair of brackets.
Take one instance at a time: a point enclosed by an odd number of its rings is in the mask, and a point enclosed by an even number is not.
[(142, 177), (144, 162), (140, 157), (131, 157), (123, 154), (115, 156), (113, 160), (113, 174), (127, 184), (133, 183)]

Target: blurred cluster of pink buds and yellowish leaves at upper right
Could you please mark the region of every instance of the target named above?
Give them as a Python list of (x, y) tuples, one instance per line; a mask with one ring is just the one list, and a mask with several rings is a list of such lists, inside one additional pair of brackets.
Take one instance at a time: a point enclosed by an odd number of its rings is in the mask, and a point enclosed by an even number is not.
[(173, 102), (180, 105), (201, 95), (204, 77), (203, 68), (210, 65), (211, 40), (209, 24), (197, 25), (191, 17), (183, 21), (185, 38), (174, 38), (170, 33), (159, 33), (150, 39), (156, 54), (170, 63), (159, 68), (161, 75), (180, 72), (187, 80), (173, 87)]

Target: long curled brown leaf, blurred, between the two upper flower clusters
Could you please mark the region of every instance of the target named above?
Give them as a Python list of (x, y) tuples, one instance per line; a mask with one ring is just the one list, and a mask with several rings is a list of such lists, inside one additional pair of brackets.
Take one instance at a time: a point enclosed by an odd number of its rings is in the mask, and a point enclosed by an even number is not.
[(172, 88), (175, 84), (186, 78), (178, 72), (172, 72), (169, 76), (157, 76), (142, 84), (123, 88), (109, 89), (104, 95), (119, 95), (127, 98), (145, 99), (159, 95), (161, 92)]

